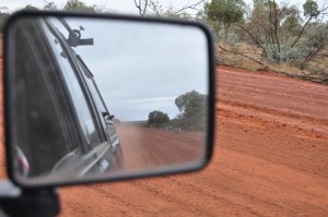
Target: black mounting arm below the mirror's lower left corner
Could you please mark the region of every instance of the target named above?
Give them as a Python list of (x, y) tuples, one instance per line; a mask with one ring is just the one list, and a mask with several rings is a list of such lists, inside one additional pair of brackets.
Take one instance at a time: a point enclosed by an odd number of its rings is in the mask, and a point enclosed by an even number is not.
[(0, 207), (9, 216), (54, 217), (60, 213), (59, 196), (54, 188), (26, 190), (8, 180), (1, 181), (2, 185), (7, 192), (0, 191)]

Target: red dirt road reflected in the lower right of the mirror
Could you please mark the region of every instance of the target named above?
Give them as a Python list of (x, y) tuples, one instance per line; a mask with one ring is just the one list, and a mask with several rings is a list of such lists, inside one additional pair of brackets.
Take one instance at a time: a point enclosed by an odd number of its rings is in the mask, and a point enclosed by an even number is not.
[(176, 133), (132, 123), (120, 123), (117, 131), (128, 171), (196, 164), (201, 160), (206, 148), (201, 132)]

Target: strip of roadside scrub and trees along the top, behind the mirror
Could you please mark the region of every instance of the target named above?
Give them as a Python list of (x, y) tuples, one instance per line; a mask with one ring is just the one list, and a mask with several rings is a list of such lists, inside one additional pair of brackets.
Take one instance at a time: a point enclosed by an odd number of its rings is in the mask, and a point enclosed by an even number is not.
[[(156, 0), (130, 0), (141, 16), (197, 20), (208, 24), (215, 37), (218, 63), (250, 71), (271, 71), (328, 83), (328, 2), (306, 0), (200, 0), (176, 9)], [(25, 9), (36, 10), (27, 4)], [(46, 1), (42, 10), (115, 11), (67, 0), (65, 5)], [(0, 34), (9, 16), (0, 5)]]

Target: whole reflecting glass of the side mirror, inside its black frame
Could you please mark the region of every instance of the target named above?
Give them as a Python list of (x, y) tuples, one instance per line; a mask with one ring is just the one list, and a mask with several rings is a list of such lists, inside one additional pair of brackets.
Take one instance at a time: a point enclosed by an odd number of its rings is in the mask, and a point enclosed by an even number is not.
[(7, 141), (21, 183), (197, 168), (209, 39), (195, 24), (17, 16), (7, 29)]

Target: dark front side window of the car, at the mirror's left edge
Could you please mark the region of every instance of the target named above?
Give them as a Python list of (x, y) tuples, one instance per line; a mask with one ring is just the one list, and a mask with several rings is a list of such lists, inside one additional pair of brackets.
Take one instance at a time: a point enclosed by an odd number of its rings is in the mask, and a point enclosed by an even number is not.
[[(33, 20), (17, 25), (24, 31), (15, 34), (14, 52), (17, 53), (12, 82), (16, 108), (11, 132), (13, 147), (17, 150), (16, 167), (21, 176), (44, 176), (65, 156), (80, 149), (79, 136), (74, 133), (73, 116), (62, 105), (67, 100), (52, 52), (43, 29)], [(52, 82), (49, 82), (52, 81)], [(66, 122), (61, 120), (67, 120)], [(23, 166), (23, 167), (22, 167)]]

